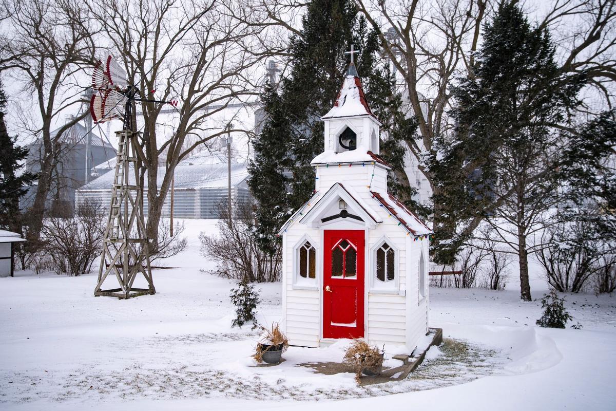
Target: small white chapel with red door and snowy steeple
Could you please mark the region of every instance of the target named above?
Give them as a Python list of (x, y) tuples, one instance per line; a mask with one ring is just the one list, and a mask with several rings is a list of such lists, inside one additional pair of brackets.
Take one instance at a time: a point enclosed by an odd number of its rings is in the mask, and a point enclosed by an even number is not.
[(311, 163), (315, 193), (279, 233), (286, 336), (306, 347), (364, 338), (410, 354), (428, 332), (432, 230), (387, 193), (381, 123), (352, 59), (322, 120), (325, 147)]

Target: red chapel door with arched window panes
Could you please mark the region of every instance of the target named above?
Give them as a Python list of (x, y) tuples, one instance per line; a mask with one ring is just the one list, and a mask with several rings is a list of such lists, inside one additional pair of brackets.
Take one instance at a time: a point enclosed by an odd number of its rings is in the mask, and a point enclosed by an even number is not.
[(323, 338), (363, 337), (363, 230), (323, 233)]

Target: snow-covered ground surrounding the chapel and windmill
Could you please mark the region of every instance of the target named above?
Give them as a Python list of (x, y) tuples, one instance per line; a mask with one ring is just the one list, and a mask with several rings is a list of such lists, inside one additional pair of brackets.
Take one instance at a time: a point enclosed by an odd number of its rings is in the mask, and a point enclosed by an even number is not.
[[(230, 328), (233, 282), (201, 271), (213, 263), (197, 236), (215, 222), (185, 226), (190, 246), (154, 271), (154, 296), (94, 298), (95, 274), (0, 279), (0, 409), (616, 409), (616, 299), (566, 295), (584, 328), (537, 328), (540, 304), (514, 284), (432, 288), (430, 325), (447, 340), (406, 381), (359, 388), (297, 366), (341, 359), (346, 341), (254, 367), (256, 333)], [(282, 320), (280, 283), (257, 288), (262, 322)]]

